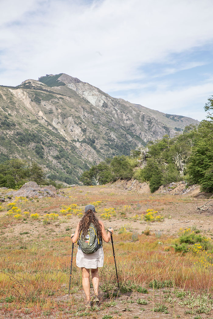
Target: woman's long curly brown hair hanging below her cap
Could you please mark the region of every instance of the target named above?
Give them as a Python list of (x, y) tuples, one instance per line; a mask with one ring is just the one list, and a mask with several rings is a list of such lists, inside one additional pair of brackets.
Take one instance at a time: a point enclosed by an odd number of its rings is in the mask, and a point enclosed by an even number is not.
[(82, 231), (82, 235), (86, 236), (87, 232), (88, 232), (88, 228), (90, 226), (90, 224), (93, 224), (96, 229), (97, 229), (97, 236), (98, 238), (102, 237), (102, 228), (101, 225), (99, 224), (98, 219), (96, 218), (94, 212), (89, 209), (88, 211), (85, 212), (84, 216), (82, 217), (82, 219), (80, 220), (79, 223), (79, 234)]

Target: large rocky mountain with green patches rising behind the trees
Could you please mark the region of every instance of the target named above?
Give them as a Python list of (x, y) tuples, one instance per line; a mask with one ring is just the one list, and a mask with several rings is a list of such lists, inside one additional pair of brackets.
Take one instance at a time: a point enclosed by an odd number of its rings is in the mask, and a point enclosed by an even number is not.
[(0, 162), (34, 160), (68, 184), (107, 157), (199, 123), (113, 98), (64, 73), (0, 86), (0, 116)]

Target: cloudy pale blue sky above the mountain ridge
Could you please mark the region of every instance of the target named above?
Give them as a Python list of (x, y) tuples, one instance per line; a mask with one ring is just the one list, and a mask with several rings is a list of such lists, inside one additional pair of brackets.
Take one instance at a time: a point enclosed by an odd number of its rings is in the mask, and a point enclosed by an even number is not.
[(66, 73), (116, 98), (206, 118), (212, 0), (1, 0), (0, 85)]

